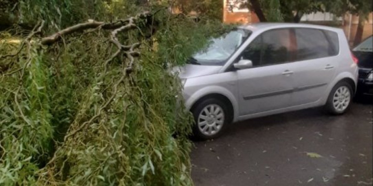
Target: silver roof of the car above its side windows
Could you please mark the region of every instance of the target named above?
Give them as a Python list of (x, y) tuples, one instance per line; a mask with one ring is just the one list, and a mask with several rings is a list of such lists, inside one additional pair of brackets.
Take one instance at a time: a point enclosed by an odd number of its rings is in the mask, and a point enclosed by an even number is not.
[(314, 28), (314, 29), (325, 29), (330, 31), (338, 31), (340, 28), (322, 26), (322, 25), (311, 25), (305, 23), (253, 23), (248, 25), (241, 25), (239, 28), (248, 29), (251, 31), (268, 30), (276, 28)]

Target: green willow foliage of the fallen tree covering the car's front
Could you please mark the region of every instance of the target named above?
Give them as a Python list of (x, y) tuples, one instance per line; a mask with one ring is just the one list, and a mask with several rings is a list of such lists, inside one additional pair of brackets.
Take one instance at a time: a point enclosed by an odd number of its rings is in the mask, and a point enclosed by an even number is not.
[[(0, 185), (192, 185), (191, 119), (170, 70), (226, 27), (162, 1), (12, 2), (16, 25), (0, 32)], [(131, 54), (115, 55), (113, 29), (101, 27), (41, 44), (87, 19), (144, 11), (115, 36)]]

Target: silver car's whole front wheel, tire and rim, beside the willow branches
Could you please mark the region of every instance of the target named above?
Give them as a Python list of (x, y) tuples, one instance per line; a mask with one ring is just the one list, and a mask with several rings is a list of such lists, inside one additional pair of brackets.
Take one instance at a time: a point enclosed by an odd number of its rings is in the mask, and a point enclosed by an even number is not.
[(215, 98), (208, 98), (198, 103), (192, 113), (194, 116), (193, 137), (197, 140), (219, 137), (229, 118), (225, 103)]

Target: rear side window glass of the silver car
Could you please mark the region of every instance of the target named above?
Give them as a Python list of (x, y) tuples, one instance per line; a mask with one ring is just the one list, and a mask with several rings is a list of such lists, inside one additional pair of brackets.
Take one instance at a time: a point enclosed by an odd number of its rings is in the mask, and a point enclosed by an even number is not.
[(320, 29), (296, 28), (297, 52), (295, 60), (312, 60), (338, 54), (338, 35)]

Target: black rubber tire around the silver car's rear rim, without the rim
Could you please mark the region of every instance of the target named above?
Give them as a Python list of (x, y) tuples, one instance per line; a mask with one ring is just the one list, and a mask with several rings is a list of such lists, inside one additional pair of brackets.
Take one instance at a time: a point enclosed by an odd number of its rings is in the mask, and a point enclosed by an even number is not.
[[(347, 87), (347, 89), (348, 89), (348, 91), (350, 93), (350, 102), (347, 104), (347, 107), (345, 107), (345, 109), (343, 109), (343, 110), (337, 110), (335, 108), (334, 104), (333, 104), (334, 103), (334, 95), (336, 94), (336, 91), (338, 89), (340, 89), (341, 87)], [(332, 91), (330, 91), (324, 108), (325, 108), (326, 112), (328, 112), (331, 115), (341, 115), (341, 114), (344, 114), (348, 110), (348, 108), (350, 108), (350, 105), (351, 105), (351, 102), (353, 100), (353, 97), (354, 97), (354, 92), (352, 91), (351, 85), (349, 83), (347, 83), (346, 81), (338, 82), (333, 87)]]

